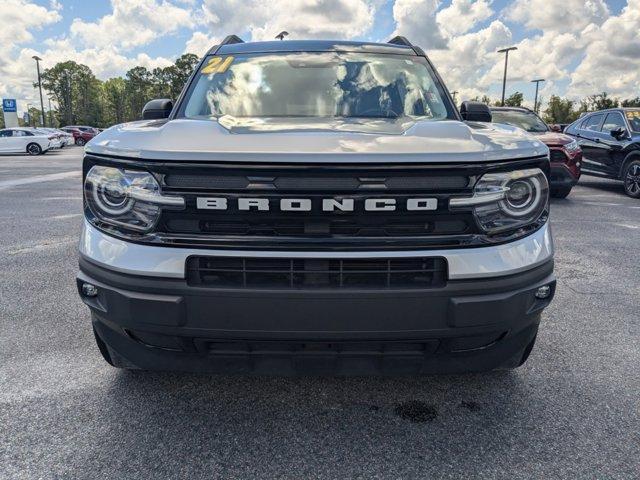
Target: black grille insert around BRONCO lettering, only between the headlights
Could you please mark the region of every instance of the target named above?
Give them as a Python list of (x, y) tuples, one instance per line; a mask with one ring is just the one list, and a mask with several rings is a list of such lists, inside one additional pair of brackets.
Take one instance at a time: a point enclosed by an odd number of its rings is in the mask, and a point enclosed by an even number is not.
[[(368, 247), (375, 242), (389, 247), (386, 242), (392, 239), (412, 246), (424, 240), (439, 247), (461, 245), (480, 232), (472, 212), (449, 211), (448, 199), (471, 192), (476, 172), (470, 171), (418, 165), (218, 165), (208, 171), (171, 167), (162, 172), (163, 190), (183, 196), (186, 208), (164, 211), (158, 231), (177, 245), (226, 242), (234, 248), (276, 247), (275, 239), (282, 248), (294, 248), (296, 242), (306, 248), (318, 239), (327, 241), (314, 246), (320, 249), (360, 240), (369, 240)], [(223, 198), (227, 208), (198, 208), (197, 198), (202, 197)], [(240, 198), (267, 199), (269, 209), (240, 210)], [(280, 202), (286, 198), (309, 199), (312, 208), (282, 211)], [(366, 211), (369, 198), (392, 199), (397, 208)], [(435, 199), (437, 208), (411, 211), (411, 198)], [(350, 199), (353, 211), (323, 211), (324, 199)]]

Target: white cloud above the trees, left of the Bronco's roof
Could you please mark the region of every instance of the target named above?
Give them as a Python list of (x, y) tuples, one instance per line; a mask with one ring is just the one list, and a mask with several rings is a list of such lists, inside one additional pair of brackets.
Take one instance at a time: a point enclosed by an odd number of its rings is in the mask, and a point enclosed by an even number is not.
[(71, 36), (85, 46), (128, 49), (195, 24), (190, 9), (166, 0), (111, 0), (111, 8), (96, 22), (74, 19)]

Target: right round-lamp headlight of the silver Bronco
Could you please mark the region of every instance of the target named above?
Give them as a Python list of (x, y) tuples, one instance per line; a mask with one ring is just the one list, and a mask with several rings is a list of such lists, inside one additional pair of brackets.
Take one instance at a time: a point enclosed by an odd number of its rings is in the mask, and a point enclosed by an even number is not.
[(487, 173), (472, 197), (453, 198), (450, 207), (473, 207), (478, 225), (488, 234), (526, 227), (547, 211), (549, 183), (539, 168)]

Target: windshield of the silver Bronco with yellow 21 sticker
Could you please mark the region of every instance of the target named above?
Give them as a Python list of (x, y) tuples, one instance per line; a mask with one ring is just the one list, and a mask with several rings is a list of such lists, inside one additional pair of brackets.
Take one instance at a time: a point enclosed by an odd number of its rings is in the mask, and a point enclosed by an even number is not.
[(422, 57), (338, 52), (212, 56), (187, 94), (189, 118), (455, 118)]

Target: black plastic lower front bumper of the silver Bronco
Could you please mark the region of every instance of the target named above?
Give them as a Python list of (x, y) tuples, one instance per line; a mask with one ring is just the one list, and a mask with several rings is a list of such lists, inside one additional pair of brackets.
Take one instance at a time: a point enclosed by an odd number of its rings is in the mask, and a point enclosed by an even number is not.
[[(130, 366), (276, 374), (517, 366), (555, 291), (551, 257), (493, 278), (449, 276), (442, 288), (292, 291), (191, 286), (83, 254), (77, 282), (98, 337)], [(84, 283), (98, 295), (83, 295)], [(543, 285), (551, 295), (538, 299)]]

